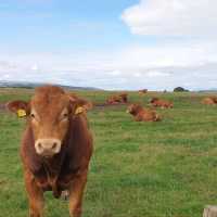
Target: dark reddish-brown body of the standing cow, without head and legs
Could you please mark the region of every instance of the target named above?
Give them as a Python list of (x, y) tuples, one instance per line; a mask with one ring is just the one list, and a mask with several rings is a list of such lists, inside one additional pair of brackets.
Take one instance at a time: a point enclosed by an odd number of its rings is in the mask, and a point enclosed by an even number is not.
[(92, 153), (92, 138), (86, 120), (79, 116), (75, 122), (76, 125), (69, 127), (61, 152), (51, 159), (36, 153), (30, 126), (27, 126), (23, 137), (21, 156), (25, 170), (34, 175), (43, 191), (53, 191), (55, 197), (61, 195), (61, 191), (68, 190), (69, 181), (77, 174), (88, 169)]

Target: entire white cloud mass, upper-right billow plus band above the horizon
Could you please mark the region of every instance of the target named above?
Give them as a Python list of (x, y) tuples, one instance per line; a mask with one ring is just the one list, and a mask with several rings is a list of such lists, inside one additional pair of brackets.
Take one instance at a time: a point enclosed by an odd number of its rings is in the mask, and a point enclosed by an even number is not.
[[(143, 43), (71, 53), (24, 54), (0, 49), (0, 79), (105, 89), (214, 88), (216, 14), (216, 0), (141, 0), (122, 17), (133, 34), (143, 35), (139, 40)], [(144, 35), (155, 35), (156, 43)]]

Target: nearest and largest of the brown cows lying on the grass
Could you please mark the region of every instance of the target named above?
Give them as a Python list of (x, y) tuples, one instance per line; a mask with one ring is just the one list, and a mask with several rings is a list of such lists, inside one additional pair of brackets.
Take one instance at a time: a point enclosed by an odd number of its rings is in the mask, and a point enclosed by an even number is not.
[(128, 106), (127, 113), (130, 113), (136, 122), (159, 122), (162, 118), (154, 110), (143, 108), (140, 104)]

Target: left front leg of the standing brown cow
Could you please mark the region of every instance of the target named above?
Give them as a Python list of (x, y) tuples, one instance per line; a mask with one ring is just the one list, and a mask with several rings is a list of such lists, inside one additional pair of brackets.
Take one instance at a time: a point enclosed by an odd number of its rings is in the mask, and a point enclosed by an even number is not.
[(42, 217), (43, 192), (37, 186), (34, 176), (28, 171), (25, 171), (25, 184), (29, 202), (29, 217)]

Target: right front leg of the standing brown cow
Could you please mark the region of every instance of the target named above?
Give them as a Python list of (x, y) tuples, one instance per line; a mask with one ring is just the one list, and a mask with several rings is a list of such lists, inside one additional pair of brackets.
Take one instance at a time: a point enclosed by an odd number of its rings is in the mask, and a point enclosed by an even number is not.
[(69, 187), (71, 217), (81, 217), (82, 194), (87, 183), (87, 171), (76, 176)]

